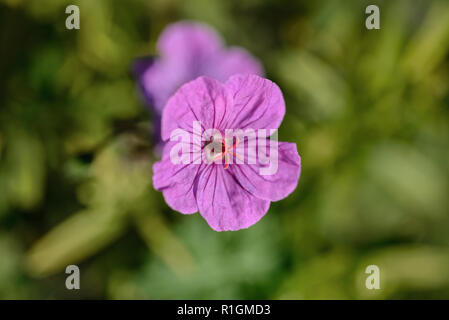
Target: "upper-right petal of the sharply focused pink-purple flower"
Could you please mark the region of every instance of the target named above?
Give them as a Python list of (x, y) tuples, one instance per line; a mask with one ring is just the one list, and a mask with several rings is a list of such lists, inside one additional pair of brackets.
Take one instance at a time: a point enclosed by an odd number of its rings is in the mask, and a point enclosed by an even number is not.
[(285, 114), (279, 87), (256, 75), (234, 75), (225, 84), (233, 97), (233, 116), (220, 129), (277, 129)]

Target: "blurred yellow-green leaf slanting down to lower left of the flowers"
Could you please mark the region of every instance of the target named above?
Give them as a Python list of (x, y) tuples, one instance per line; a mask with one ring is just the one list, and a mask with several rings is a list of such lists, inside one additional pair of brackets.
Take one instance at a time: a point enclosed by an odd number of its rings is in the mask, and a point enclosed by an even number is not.
[(150, 164), (128, 159), (125, 142), (124, 137), (118, 139), (95, 158), (93, 179), (80, 193), (88, 208), (56, 226), (27, 253), (32, 275), (49, 275), (83, 261), (126, 230), (127, 214), (146, 197)]

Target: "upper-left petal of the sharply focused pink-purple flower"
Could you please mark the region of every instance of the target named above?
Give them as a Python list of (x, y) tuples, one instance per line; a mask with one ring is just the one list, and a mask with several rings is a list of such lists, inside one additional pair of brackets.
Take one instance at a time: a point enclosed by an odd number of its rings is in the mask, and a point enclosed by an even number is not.
[[(176, 129), (193, 133), (193, 123), (203, 129), (217, 128), (226, 117), (229, 96), (220, 82), (199, 77), (184, 84), (168, 100), (162, 114), (162, 139), (170, 138)], [(201, 132), (199, 132), (201, 134)]]

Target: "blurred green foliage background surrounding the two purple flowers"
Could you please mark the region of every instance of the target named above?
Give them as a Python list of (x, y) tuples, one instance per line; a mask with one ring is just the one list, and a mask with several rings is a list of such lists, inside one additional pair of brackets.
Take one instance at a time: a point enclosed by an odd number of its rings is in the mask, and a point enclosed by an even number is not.
[[(181, 19), (246, 47), (286, 99), (302, 176), (248, 230), (151, 186), (130, 67)], [(0, 298), (449, 299), (448, 106), (449, 1), (0, 0)]]

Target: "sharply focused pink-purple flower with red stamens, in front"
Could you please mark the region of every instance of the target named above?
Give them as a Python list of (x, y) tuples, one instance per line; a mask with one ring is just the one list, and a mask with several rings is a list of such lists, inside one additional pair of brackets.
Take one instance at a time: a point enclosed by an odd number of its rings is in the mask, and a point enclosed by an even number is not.
[[(162, 160), (153, 166), (155, 189), (162, 191), (172, 209), (184, 214), (199, 211), (216, 231), (250, 227), (265, 215), (271, 201), (288, 196), (299, 180), (296, 144), (278, 143), (269, 139), (269, 133), (262, 138), (259, 134), (257, 141), (248, 135), (278, 129), (284, 114), (279, 87), (256, 75), (234, 75), (224, 84), (199, 77), (184, 84), (162, 114), (165, 147)], [(199, 125), (200, 133), (195, 128)], [(207, 133), (211, 129), (216, 133)], [(238, 132), (232, 139), (229, 129)], [(180, 130), (192, 139), (180, 142)], [(216, 135), (224, 138), (214, 139)], [(189, 147), (182, 158), (187, 161), (176, 164), (173, 155), (179, 155), (176, 148), (182, 142)], [(195, 150), (200, 150), (201, 159)], [(271, 153), (276, 154), (276, 171), (261, 174), (271, 164), (260, 155)]]

